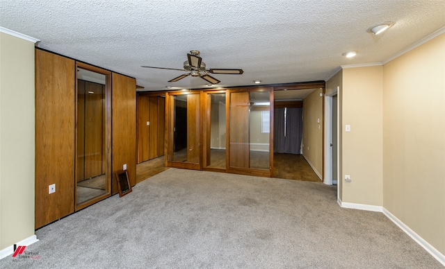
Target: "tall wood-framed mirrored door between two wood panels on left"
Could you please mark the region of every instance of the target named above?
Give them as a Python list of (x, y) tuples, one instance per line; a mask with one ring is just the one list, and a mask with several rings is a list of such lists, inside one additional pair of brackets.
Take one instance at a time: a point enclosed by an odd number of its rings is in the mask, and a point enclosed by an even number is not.
[[(110, 196), (109, 75), (77, 67), (76, 209)], [(107, 147), (108, 146), (108, 147)]]

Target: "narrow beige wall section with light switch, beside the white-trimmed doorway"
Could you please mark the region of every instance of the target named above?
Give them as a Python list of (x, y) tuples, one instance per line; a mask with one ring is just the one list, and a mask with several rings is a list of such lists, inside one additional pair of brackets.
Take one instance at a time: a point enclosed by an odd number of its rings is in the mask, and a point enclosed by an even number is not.
[[(382, 65), (343, 68), (342, 202), (382, 207)], [(350, 132), (346, 132), (350, 125)]]

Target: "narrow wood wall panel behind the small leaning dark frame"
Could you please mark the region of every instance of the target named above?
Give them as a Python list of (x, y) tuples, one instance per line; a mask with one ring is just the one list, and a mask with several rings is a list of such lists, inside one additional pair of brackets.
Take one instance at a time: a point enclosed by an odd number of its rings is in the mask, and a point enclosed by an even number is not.
[(112, 75), (112, 193), (118, 193), (115, 173), (127, 164), (131, 186), (136, 184), (136, 80)]

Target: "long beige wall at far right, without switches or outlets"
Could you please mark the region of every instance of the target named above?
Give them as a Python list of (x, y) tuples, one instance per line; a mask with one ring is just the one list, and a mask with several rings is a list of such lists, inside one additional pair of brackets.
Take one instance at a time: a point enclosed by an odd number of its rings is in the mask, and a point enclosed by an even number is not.
[(445, 33), (383, 67), (383, 206), (445, 264)]

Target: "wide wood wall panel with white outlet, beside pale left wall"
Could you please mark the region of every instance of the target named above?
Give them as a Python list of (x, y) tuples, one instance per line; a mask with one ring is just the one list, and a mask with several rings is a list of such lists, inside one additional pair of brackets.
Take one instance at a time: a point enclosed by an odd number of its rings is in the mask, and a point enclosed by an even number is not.
[(35, 50), (36, 228), (74, 211), (75, 83), (74, 60)]

